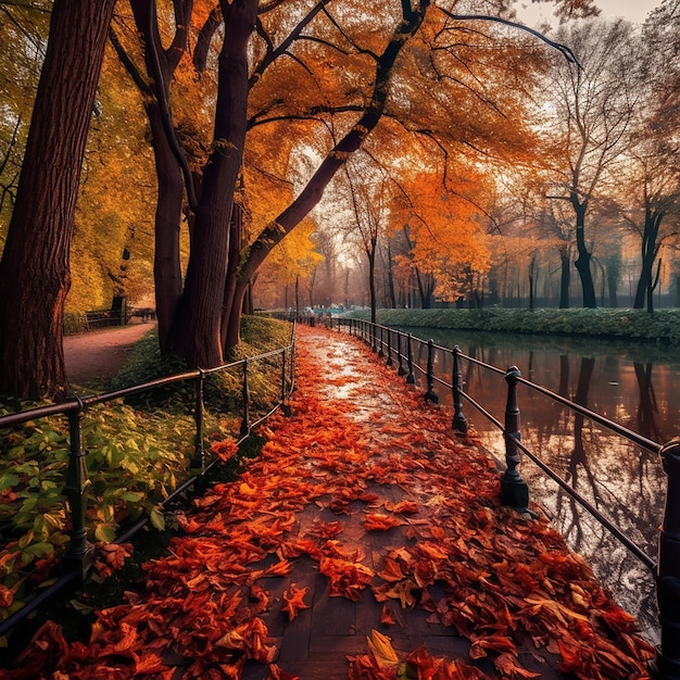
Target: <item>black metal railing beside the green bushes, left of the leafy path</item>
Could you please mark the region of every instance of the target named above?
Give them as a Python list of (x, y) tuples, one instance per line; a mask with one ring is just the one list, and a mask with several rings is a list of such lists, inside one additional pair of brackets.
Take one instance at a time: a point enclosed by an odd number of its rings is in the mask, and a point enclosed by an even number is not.
[[(182, 382), (194, 383), (194, 401), (192, 404), (192, 415), (196, 424), (196, 432), (193, 435), (193, 458), (192, 466), (200, 471), (185, 479), (177, 488), (165, 499), (160, 505), (168, 506), (177, 501), (179, 496), (188, 489), (197, 484), (197, 482), (205, 477), (205, 475), (219, 462), (221, 458), (212, 456), (209, 459), (209, 453), (205, 450), (204, 436), (204, 386), (209, 376), (223, 373), (226, 370), (242, 372), (242, 413), (239, 429), (240, 439), (237, 444), (241, 444), (261, 423), (269, 418), (279, 408), (287, 408), (287, 400), (294, 389), (294, 364), (295, 364), (295, 328), (292, 325), (290, 344), (285, 348), (259, 354), (249, 358), (243, 358), (229, 364), (224, 364), (216, 368), (189, 370), (181, 374), (175, 374), (150, 380), (140, 385), (128, 388), (118, 389), (110, 392), (103, 392), (91, 396), (73, 396), (59, 404), (50, 404), (29, 408), (22, 412), (0, 416), (0, 430), (22, 425), (38, 418), (63, 415), (68, 420), (68, 465), (66, 469), (64, 495), (68, 500), (68, 511), (71, 514), (71, 541), (64, 553), (60, 566), (62, 575), (53, 584), (45, 588), (39, 594), (29, 600), (21, 609), (11, 614), (3, 621), (0, 621), (0, 637), (7, 634), (28, 614), (41, 606), (46, 601), (54, 597), (66, 587), (83, 582), (90, 571), (93, 562), (93, 546), (87, 539), (86, 511), (87, 499), (85, 490), (88, 486), (88, 470), (86, 465), (87, 453), (83, 448), (83, 420), (86, 417), (87, 408), (97, 404), (112, 402), (114, 400), (126, 399), (129, 396), (147, 394), (165, 388), (168, 386), (179, 385)], [(259, 362), (272, 362), (280, 357), (280, 391), (278, 391), (277, 403), (269, 411), (253, 419), (251, 414), (250, 381), (249, 367)], [(176, 442), (174, 442), (176, 443)], [(125, 543), (135, 536), (149, 521), (149, 517), (142, 517), (135, 524), (125, 527), (124, 532), (115, 539), (115, 543)]]

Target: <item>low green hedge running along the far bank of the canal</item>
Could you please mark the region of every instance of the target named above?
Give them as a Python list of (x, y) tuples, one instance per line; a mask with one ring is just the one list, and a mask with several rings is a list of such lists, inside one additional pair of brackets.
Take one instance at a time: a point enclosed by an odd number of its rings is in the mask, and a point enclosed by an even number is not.
[[(351, 316), (370, 318), (368, 311)], [(680, 344), (680, 310), (378, 310), (387, 326), (454, 328), (550, 336), (592, 336)]]

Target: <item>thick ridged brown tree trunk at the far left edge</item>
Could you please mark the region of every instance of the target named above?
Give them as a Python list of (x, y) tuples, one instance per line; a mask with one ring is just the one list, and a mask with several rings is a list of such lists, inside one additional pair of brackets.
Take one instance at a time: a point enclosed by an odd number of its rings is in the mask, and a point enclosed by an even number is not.
[(0, 261), (0, 392), (67, 389), (64, 301), (80, 168), (115, 0), (55, 0)]

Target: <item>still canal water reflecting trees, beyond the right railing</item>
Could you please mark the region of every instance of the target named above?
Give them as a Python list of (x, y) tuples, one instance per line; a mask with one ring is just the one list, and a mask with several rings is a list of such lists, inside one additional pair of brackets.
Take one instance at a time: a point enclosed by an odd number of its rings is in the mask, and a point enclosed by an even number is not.
[[(464, 354), (503, 370), (515, 365), (524, 378), (654, 441), (680, 436), (680, 350), (592, 339), (403, 330), (442, 347), (457, 344)], [(425, 367), (427, 351), (415, 358)], [(469, 362), (462, 368), (464, 391), (503, 421), (504, 377)], [(435, 373), (451, 382), (450, 352), (436, 355)], [(525, 386), (517, 390), (522, 443), (656, 559), (666, 498), (660, 459)], [(443, 388), (438, 392), (440, 402), (450, 405), (451, 394)], [(503, 459), (502, 435), (469, 404), (464, 403), (464, 410), (482, 445)], [(531, 461), (522, 459), (520, 474), (531, 500), (590, 562), (619, 604), (639, 618), (645, 637), (657, 643), (656, 593), (648, 569)]]

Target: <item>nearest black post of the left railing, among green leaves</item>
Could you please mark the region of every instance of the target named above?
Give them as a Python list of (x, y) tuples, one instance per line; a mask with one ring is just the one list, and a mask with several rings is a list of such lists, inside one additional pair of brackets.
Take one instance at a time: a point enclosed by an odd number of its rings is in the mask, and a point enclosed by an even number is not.
[(83, 400), (75, 394), (78, 410), (68, 412), (68, 469), (64, 495), (71, 506), (71, 544), (64, 555), (64, 571), (78, 570), (83, 578), (87, 576), (93, 562), (93, 546), (87, 540), (85, 512), (87, 501), (85, 490), (90, 483), (87, 475), (86, 452), (83, 450), (81, 424), (85, 406)]

